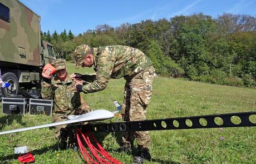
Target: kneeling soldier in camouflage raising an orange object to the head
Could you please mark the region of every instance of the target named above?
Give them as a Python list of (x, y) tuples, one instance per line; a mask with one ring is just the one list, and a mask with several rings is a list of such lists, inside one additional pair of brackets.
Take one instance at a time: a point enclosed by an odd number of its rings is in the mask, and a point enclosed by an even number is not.
[[(52, 66), (56, 69), (53, 76), (51, 75), (53, 71), (51, 68), (43, 69), (41, 95), (44, 99), (53, 98), (54, 100), (53, 122), (65, 121), (68, 115), (82, 115), (91, 111), (91, 107), (82, 100), (80, 93), (74, 90), (75, 82), (68, 76), (66, 61), (56, 59), (52, 61)], [(61, 135), (61, 131), (64, 131), (66, 126), (55, 127), (55, 137), (61, 148), (67, 147), (66, 138)]]

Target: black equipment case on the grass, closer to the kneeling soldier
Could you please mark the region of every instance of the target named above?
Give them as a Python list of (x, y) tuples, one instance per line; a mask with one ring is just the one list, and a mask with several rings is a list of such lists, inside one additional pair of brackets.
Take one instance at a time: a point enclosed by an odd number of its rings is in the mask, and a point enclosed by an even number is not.
[(53, 100), (29, 99), (29, 114), (31, 115), (52, 115)]

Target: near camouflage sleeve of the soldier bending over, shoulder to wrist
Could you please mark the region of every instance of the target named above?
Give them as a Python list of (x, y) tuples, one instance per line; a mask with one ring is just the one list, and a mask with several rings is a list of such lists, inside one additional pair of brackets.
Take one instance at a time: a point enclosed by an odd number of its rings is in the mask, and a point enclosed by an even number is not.
[(115, 56), (111, 54), (100, 54), (97, 59), (97, 78), (92, 83), (83, 85), (83, 93), (93, 93), (102, 91), (107, 87), (115, 65)]

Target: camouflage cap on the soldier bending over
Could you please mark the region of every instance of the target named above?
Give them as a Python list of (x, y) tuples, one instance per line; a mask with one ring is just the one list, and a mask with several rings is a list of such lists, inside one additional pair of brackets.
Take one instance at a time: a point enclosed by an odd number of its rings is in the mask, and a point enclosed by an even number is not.
[(91, 47), (87, 44), (82, 44), (80, 46), (77, 46), (75, 49), (75, 62), (76, 62), (76, 68), (80, 68), (82, 66), (83, 58), (86, 56), (88, 52), (90, 52)]

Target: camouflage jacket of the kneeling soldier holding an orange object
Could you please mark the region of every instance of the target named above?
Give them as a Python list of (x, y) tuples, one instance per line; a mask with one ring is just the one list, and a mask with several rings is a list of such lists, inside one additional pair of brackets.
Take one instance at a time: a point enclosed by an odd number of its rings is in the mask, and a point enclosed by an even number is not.
[(75, 91), (75, 83), (69, 76), (64, 82), (58, 77), (43, 81), (41, 95), (45, 99), (53, 98), (53, 116), (69, 115), (81, 107), (80, 93)]

